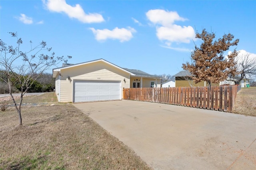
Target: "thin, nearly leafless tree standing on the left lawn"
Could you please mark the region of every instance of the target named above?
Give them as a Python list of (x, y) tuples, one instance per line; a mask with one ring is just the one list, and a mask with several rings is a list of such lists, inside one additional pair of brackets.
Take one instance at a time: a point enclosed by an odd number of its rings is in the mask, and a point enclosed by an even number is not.
[[(42, 72), (58, 64), (64, 57), (55, 57), (54, 52), (50, 53), (52, 48), (47, 48), (45, 41), (34, 47), (32, 41), (30, 41), (28, 51), (22, 51), (22, 39), (18, 38), (17, 33), (10, 32), (10, 35), (17, 40), (16, 47), (7, 45), (0, 39), (0, 69), (2, 74), (5, 75), (2, 81), (9, 86), (9, 94), (19, 115), (19, 124), (22, 125), (21, 104), (24, 94)], [(71, 56), (68, 56), (68, 58), (71, 58)], [(12, 95), (12, 89), (17, 84), (20, 86), (21, 94), (20, 98), (15, 99)]]

